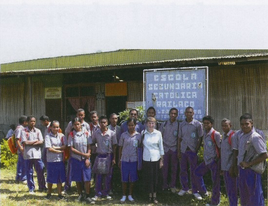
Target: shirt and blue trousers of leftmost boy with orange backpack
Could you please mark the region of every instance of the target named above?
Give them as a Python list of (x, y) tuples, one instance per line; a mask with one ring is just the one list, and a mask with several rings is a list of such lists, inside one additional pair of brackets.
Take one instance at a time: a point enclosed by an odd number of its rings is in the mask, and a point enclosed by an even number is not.
[[(20, 144), (21, 144), (22, 132), (25, 132), (24, 130), (25, 130), (25, 128), (22, 125), (19, 125), (16, 128), (16, 130), (14, 131), (15, 138), (16, 138), (16, 140), (19, 139)], [(22, 146), (22, 144), (21, 144), (21, 146)], [(26, 170), (25, 170), (25, 161), (23, 159), (23, 154), (21, 153), (19, 148), (18, 148), (17, 154), (18, 154), (18, 162), (17, 162), (16, 181), (23, 182), (23, 181), (27, 180)]]

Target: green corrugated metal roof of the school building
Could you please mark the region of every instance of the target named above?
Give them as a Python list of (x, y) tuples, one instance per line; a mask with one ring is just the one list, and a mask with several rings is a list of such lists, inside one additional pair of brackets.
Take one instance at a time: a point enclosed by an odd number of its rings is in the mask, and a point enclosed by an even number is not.
[(20, 61), (1, 65), (0, 75), (88, 71), (99, 68), (150, 65), (165, 62), (198, 62), (203, 60), (268, 57), (268, 50), (118, 50), (77, 56)]

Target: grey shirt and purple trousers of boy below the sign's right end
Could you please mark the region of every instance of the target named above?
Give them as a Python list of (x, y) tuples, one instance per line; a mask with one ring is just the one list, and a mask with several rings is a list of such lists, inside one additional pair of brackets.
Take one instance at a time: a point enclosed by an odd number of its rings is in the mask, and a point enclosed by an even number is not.
[(194, 174), (194, 170), (197, 168), (198, 163), (196, 147), (199, 138), (202, 136), (203, 128), (199, 121), (192, 119), (192, 121), (189, 123), (186, 120), (180, 123), (178, 135), (181, 140), (180, 183), (184, 191), (189, 190), (187, 168), (187, 165), (189, 164), (191, 174), (191, 189), (193, 194), (198, 192), (207, 192), (203, 177), (198, 177)]

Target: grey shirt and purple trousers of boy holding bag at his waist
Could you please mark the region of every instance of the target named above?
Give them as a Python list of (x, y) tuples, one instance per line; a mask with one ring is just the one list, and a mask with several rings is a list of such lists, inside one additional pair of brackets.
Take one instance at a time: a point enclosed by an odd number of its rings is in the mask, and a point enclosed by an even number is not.
[[(96, 173), (96, 182), (95, 182), (95, 192), (96, 196), (108, 195), (111, 189), (112, 177), (113, 177), (113, 167), (112, 161), (114, 158), (113, 155), (113, 146), (117, 144), (116, 134), (114, 131), (108, 129), (104, 134), (100, 129), (95, 131), (92, 135), (92, 143), (97, 144), (96, 148), (96, 162), (98, 164), (98, 158), (108, 158), (109, 164), (111, 165), (108, 174), (98, 174)], [(102, 189), (102, 181), (104, 181), (104, 188)]]

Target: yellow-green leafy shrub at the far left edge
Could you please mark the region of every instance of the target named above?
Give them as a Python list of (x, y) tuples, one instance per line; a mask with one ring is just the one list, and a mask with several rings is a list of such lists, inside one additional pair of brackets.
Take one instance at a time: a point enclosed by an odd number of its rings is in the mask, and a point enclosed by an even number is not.
[(3, 140), (0, 146), (0, 167), (10, 168), (16, 165), (16, 163), (18, 162), (18, 155), (11, 153), (7, 144), (7, 140)]

